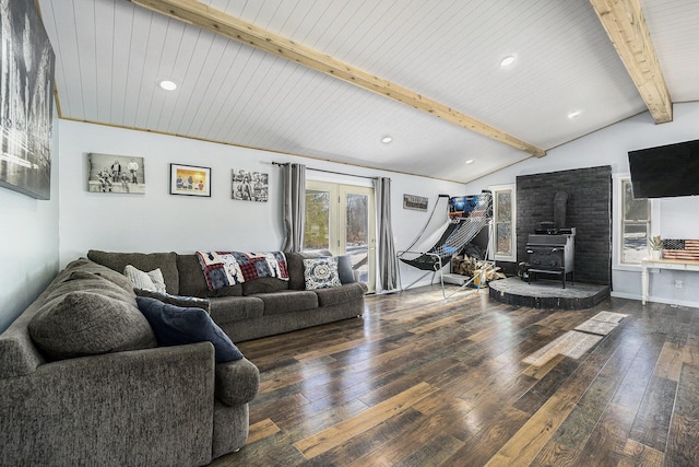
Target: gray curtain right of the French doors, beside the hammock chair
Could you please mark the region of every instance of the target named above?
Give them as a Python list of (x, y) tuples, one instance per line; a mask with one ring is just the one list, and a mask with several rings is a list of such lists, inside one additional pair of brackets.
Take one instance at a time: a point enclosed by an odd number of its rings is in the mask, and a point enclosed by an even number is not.
[(374, 179), (376, 196), (376, 217), (378, 235), (377, 253), (379, 257), (378, 277), (380, 290), (391, 291), (398, 288), (398, 262), (393, 246), (393, 227), (391, 226), (391, 179), (378, 177)]

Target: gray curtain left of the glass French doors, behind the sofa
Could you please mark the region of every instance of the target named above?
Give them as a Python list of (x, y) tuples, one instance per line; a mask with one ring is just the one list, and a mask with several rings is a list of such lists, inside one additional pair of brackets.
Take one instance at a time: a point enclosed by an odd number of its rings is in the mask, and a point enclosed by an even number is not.
[(304, 164), (282, 165), (284, 179), (284, 252), (304, 249), (306, 226), (306, 166)]

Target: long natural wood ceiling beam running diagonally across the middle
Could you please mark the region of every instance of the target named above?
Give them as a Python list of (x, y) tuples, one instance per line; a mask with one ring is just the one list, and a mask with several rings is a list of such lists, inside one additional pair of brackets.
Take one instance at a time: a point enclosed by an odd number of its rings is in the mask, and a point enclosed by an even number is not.
[(175, 17), (186, 23), (221, 34), (233, 40), (295, 61), (321, 73), (343, 80), (347, 83), (410, 105), (419, 110), (435, 115), (443, 120), (459, 125), (471, 131), (509, 144), (537, 157), (546, 155), (546, 151), (488, 124), (464, 115), (436, 101), (422, 96), (384, 79), (375, 77), (364, 70), (345, 63), (310, 47), (297, 44), (272, 32), (247, 23), (220, 10), (210, 8), (194, 0), (130, 0), (132, 3), (149, 10)]

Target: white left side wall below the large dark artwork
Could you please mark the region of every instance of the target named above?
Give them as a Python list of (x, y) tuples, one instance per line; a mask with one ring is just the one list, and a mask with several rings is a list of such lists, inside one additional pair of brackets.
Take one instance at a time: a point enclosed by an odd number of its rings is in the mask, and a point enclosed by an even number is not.
[(51, 198), (0, 188), (0, 332), (58, 272), (58, 119), (54, 119)]

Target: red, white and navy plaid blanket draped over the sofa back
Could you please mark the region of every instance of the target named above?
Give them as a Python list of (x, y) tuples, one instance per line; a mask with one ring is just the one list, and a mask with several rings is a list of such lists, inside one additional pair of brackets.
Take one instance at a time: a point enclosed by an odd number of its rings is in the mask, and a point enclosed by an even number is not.
[(258, 278), (288, 280), (286, 256), (282, 252), (197, 252), (209, 290), (248, 282)]

